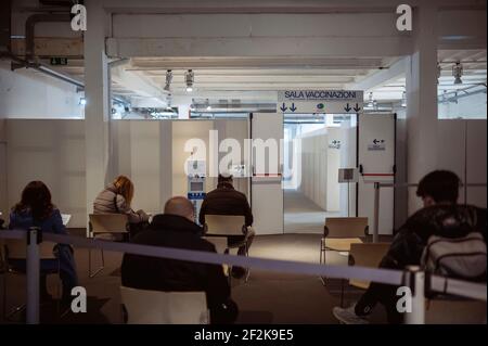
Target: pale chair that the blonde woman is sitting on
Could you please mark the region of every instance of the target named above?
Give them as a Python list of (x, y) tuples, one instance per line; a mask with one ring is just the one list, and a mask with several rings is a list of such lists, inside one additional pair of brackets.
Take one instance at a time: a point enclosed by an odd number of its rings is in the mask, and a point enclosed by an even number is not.
[[(129, 218), (125, 214), (90, 214), (89, 215), (89, 238), (114, 240), (114, 234), (129, 236)], [(103, 248), (100, 249), (102, 265), (92, 272), (91, 270), (91, 248), (88, 251), (88, 275), (94, 278), (105, 268)]]

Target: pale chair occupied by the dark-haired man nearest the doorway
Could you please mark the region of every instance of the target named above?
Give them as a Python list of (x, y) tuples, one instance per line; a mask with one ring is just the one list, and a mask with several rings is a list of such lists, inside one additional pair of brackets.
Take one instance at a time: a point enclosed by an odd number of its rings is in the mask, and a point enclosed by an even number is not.
[[(244, 235), (244, 239), (236, 243), (228, 246), (228, 251), (231, 248), (239, 248), (245, 246), (246, 256), (249, 255), (247, 248), (247, 242), (249, 238), (249, 230), (245, 226), (245, 217), (241, 215), (205, 215), (204, 225), (205, 234), (207, 236), (234, 236)], [(245, 282), (249, 280), (251, 271), (247, 269)], [(231, 275), (229, 275), (230, 280)]]

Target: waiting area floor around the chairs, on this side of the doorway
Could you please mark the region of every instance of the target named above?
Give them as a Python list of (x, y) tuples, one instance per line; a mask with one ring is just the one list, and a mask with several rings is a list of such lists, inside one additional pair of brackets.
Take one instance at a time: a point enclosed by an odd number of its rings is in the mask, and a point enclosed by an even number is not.
[[(309, 262), (319, 260), (320, 235), (284, 234), (256, 236), (251, 256), (292, 259)], [(97, 256), (99, 252), (94, 253)], [(346, 264), (346, 257), (329, 254), (331, 264)], [(88, 312), (67, 315), (60, 319), (55, 305), (42, 306), (41, 320), (44, 323), (120, 323), (120, 266), (121, 255), (105, 253), (106, 268), (97, 278), (87, 275), (88, 252), (76, 251), (80, 283), (87, 289)], [(2, 275), (3, 277), (3, 275)], [(3, 280), (2, 278), (1, 280)], [(25, 302), (25, 278), (9, 275), (8, 310)], [(49, 279), (50, 290), (55, 293), (57, 280)], [(323, 286), (317, 277), (285, 274), (253, 270), (247, 283), (233, 280), (232, 297), (240, 307), (237, 323), (336, 323), (332, 308), (339, 304), (341, 281), (330, 280)], [(347, 284), (346, 284), (347, 286)], [(2, 286), (1, 286), (2, 287)], [(346, 290), (346, 300), (351, 302), (360, 292)], [(377, 322), (383, 320), (378, 312)], [(0, 317), (3, 323), (3, 316)]]

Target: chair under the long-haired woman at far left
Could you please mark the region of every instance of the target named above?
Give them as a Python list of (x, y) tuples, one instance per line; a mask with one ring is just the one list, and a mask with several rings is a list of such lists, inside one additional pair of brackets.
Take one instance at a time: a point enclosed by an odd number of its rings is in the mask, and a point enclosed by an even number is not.
[[(2, 231), (8, 232), (8, 231)], [(55, 244), (53, 243), (40, 243), (39, 244), (39, 258), (40, 260), (46, 259), (55, 259), (57, 260), (57, 270), (54, 271), (46, 271), (42, 270), (41, 274), (57, 274), (60, 277), (61, 272), (61, 262), (57, 257), (54, 256), (53, 247)], [(4, 258), (5, 258), (5, 277), (3, 280), (3, 316), (7, 320), (9, 320), (12, 316), (15, 313), (18, 313), (23, 310), (25, 310), (26, 305), (23, 304), (21, 306), (17, 306), (14, 308), (13, 311), (11, 311), (9, 315), (5, 313), (5, 307), (7, 307), (7, 274), (21, 274), (25, 275), (26, 272), (22, 270), (16, 270), (12, 265), (11, 260), (26, 260), (27, 258), (27, 244), (25, 240), (3, 240), (3, 248), (4, 248)], [(60, 285), (59, 287), (59, 295), (61, 292)], [(59, 308), (59, 306), (57, 306)]]

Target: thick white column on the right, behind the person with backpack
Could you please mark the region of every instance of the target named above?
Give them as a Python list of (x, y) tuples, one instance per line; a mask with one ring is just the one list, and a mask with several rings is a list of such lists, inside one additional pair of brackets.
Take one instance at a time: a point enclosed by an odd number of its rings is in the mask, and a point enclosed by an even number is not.
[[(437, 167), (437, 8), (413, 12), (414, 50), (407, 64), (407, 177), (419, 180)], [(409, 213), (419, 204), (409, 193)]]

